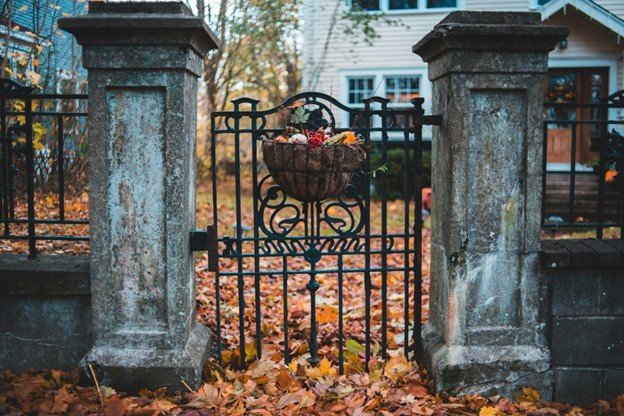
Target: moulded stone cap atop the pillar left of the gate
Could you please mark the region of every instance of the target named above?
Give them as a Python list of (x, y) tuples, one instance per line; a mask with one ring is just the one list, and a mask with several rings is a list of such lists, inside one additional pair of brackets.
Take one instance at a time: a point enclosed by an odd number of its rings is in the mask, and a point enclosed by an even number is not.
[(182, 2), (90, 1), (88, 14), (60, 18), (58, 27), (83, 46), (189, 46), (202, 57), (219, 47), (206, 23)]

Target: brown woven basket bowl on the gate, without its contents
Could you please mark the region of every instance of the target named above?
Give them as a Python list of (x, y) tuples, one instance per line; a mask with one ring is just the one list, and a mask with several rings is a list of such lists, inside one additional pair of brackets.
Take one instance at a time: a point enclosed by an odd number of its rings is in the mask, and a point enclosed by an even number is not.
[(317, 202), (340, 195), (366, 152), (360, 145), (309, 147), (263, 140), (262, 156), (284, 193), (302, 202)]

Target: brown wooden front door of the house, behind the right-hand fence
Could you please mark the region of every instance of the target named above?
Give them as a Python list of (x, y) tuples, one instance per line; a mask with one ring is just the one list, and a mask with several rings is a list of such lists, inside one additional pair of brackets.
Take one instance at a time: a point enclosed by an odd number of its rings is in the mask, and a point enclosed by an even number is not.
[[(547, 103), (597, 103), (609, 92), (609, 68), (557, 68), (548, 71), (545, 86)], [(548, 162), (567, 164), (569, 168), (575, 147), (576, 163), (586, 164), (598, 155), (600, 125), (565, 123), (576, 120), (598, 120), (599, 109), (548, 108), (546, 118), (557, 120), (548, 125)], [(576, 140), (573, 131), (576, 129)]]

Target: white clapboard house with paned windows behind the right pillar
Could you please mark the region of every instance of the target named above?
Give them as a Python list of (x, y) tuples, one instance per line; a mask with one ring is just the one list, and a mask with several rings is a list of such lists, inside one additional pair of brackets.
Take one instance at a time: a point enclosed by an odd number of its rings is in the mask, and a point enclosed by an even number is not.
[[(410, 105), (411, 98), (422, 96), (429, 110), (431, 84), (427, 65), (411, 52), (411, 47), (454, 10), (533, 10), (541, 13), (545, 24), (570, 27), (567, 41), (550, 54), (545, 91), (551, 96), (590, 102), (624, 89), (624, 0), (353, 1), (358, 1), (368, 13), (383, 12), (401, 24), (380, 24), (376, 28), (380, 38), (372, 46), (361, 41), (354, 44), (353, 37), (345, 36), (341, 30), (340, 18), (337, 21), (332, 18), (342, 14), (341, 8), (352, 7), (350, 1), (304, 2), (307, 71), (303, 88), (332, 94), (350, 106), (361, 105), (361, 98), (375, 93), (389, 98), (394, 106)], [(570, 118), (588, 118), (588, 114), (573, 114), (575, 111), (571, 110)], [(591, 129), (579, 128), (578, 162), (587, 162), (595, 156), (590, 154)], [(567, 131), (569, 134), (570, 129)], [(556, 144), (554, 139), (551, 142)], [(551, 149), (549, 161), (569, 160), (569, 148), (568, 155), (565, 149), (560, 149), (559, 156), (556, 153), (556, 149)]]

